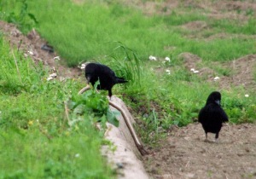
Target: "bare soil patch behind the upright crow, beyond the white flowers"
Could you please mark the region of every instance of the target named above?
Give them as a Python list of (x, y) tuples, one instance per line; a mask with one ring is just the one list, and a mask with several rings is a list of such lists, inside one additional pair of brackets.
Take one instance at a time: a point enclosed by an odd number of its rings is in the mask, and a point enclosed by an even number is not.
[[(208, 82), (213, 82), (213, 78), (219, 77), (216, 82), (220, 89), (228, 90), (230, 86), (243, 86), (249, 89), (256, 90), (256, 55), (246, 55), (234, 61), (228, 61), (224, 63), (209, 62), (208, 67), (200, 67), (201, 58), (197, 55), (190, 53), (183, 53), (179, 55), (184, 61), (184, 66), (190, 70), (195, 68), (198, 70), (198, 75), (202, 78), (207, 78)], [(213, 67), (211, 67), (213, 66)], [(226, 69), (230, 74), (224, 76), (214, 69), (214, 66), (220, 66)]]

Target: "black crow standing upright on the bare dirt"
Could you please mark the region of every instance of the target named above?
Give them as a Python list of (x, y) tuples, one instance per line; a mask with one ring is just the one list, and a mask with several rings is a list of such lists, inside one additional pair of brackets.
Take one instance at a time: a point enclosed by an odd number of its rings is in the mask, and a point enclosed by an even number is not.
[(220, 93), (218, 91), (212, 92), (207, 98), (206, 106), (201, 108), (201, 111), (199, 112), (198, 121), (206, 132), (206, 140), (207, 133), (211, 132), (216, 134), (215, 141), (217, 141), (222, 124), (229, 121), (227, 114), (220, 106), (220, 101)]

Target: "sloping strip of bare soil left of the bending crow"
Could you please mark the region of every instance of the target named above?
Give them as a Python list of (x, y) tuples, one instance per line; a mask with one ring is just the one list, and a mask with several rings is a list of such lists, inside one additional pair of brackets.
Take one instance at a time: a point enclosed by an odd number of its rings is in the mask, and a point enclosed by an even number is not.
[(23, 35), (15, 25), (0, 20), (0, 31), (10, 43), (11, 47), (18, 48), (24, 56), (30, 56), (35, 63), (41, 61), (49, 72), (57, 72), (57, 78), (74, 78), (82, 74), (79, 68), (67, 68), (65, 63), (55, 61), (57, 53), (41, 49), (42, 45), (47, 44), (35, 30)]

